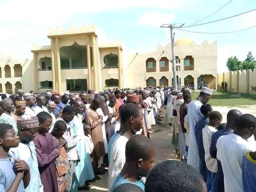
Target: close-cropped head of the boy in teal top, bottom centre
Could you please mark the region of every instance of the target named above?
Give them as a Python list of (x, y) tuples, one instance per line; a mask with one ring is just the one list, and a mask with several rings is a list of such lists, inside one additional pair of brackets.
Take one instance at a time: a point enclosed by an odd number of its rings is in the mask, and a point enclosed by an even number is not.
[(155, 162), (153, 142), (144, 135), (133, 135), (126, 143), (126, 162), (137, 170), (138, 176), (146, 177)]

